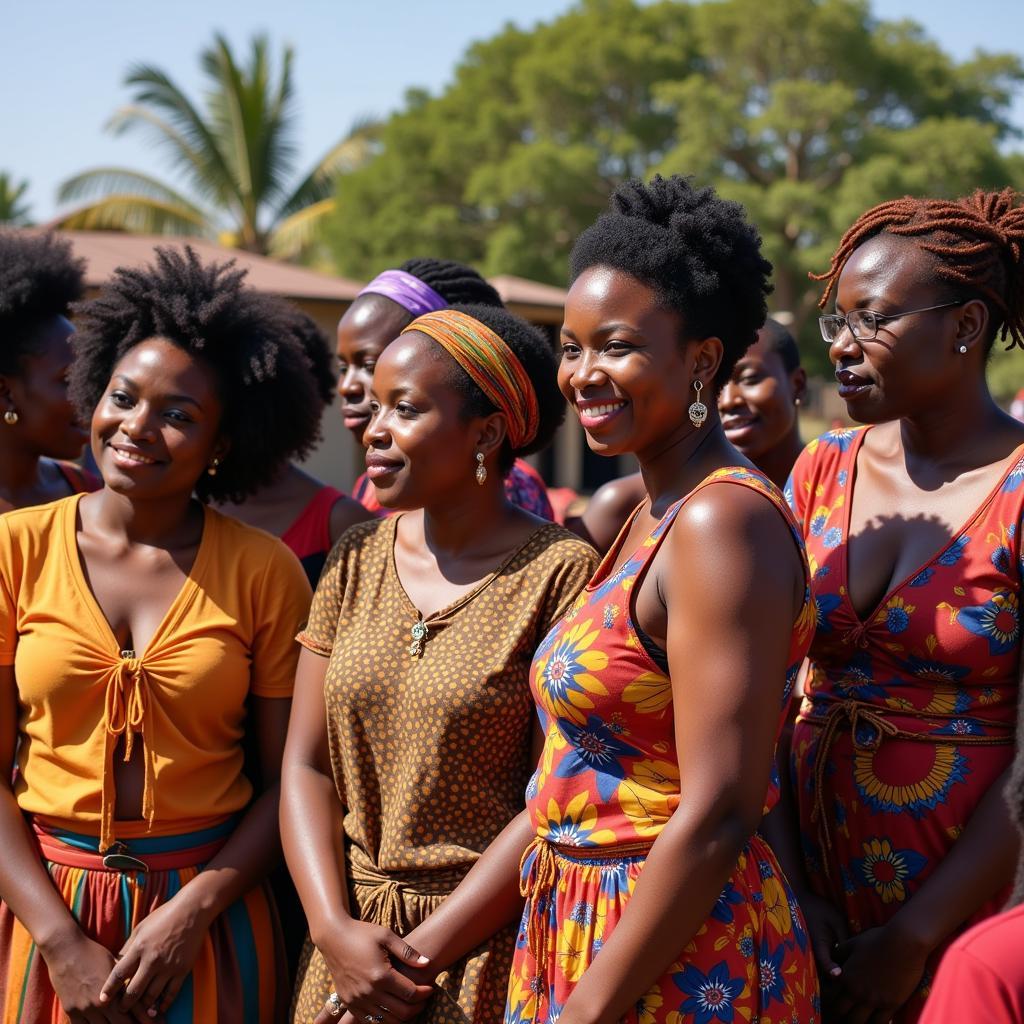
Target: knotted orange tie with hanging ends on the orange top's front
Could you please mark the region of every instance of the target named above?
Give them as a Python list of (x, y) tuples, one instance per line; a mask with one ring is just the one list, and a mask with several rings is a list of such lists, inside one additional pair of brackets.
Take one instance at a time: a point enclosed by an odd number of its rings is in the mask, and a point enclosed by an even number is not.
[(106, 679), (103, 694), (103, 787), (100, 806), (99, 849), (106, 850), (114, 843), (114, 753), (124, 740), (124, 762), (131, 761), (135, 750), (135, 736), (142, 743), (142, 817), (153, 825), (156, 813), (154, 788), (156, 759), (151, 740), (150, 686), (142, 663), (131, 651), (122, 651)]

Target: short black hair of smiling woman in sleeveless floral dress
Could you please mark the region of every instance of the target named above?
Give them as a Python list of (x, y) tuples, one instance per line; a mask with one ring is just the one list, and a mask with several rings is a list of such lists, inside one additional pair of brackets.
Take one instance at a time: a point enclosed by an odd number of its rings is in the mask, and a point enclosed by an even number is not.
[(687, 338), (721, 338), (719, 388), (757, 338), (771, 293), (771, 263), (761, 237), (738, 203), (688, 178), (655, 174), (648, 184), (627, 181), (611, 209), (577, 240), (569, 279), (607, 266), (654, 289), (679, 313)]

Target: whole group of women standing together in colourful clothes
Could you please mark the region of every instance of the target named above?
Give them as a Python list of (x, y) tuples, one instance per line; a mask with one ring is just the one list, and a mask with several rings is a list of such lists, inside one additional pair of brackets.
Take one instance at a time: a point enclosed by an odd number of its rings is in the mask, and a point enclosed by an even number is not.
[[(560, 357), (410, 261), (339, 325), (348, 498), (295, 310), (158, 250), (72, 334), (67, 246), (0, 234), (3, 1024), (927, 1019), (1019, 845), (1022, 246), (1009, 190), (859, 218), (865, 426), (803, 452), (710, 188), (616, 189)], [(571, 530), (524, 462), (566, 406), (640, 469)]]

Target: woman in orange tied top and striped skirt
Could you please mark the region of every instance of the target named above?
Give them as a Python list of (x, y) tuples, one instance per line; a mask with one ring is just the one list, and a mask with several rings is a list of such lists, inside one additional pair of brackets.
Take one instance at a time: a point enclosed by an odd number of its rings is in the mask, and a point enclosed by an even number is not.
[(243, 276), (190, 250), (116, 271), (71, 381), (103, 488), (0, 519), (5, 1024), (272, 1024), (287, 1005), (263, 880), (309, 585), (193, 496), (265, 483), (316, 403)]

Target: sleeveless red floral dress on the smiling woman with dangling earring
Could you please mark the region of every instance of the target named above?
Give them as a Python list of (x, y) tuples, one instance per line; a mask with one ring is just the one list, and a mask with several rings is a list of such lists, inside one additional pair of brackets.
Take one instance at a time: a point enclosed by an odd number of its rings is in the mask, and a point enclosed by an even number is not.
[[(803, 557), (793, 517), (764, 476), (740, 468), (719, 470), (687, 498), (711, 485), (763, 494), (785, 516)], [(531, 686), (546, 740), (526, 792), (537, 838), (522, 863), (526, 906), (506, 1024), (558, 1020), (621, 919), (651, 845), (679, 805), (672, 684), (645, 649), (630, 597), (686, 501), (673, 505), (609, 575), (627, 523), (535, 656)], [(779, 728), (812, 626), (808, 590), (794, 627), (792, 669), (778, 680)], [(767, 805), (777, 798), (773, 782)], [(624, 1021), (813, 1024), (818, 1013), (803, 920), (775, 855), (755, 835), (711, 915)]]

